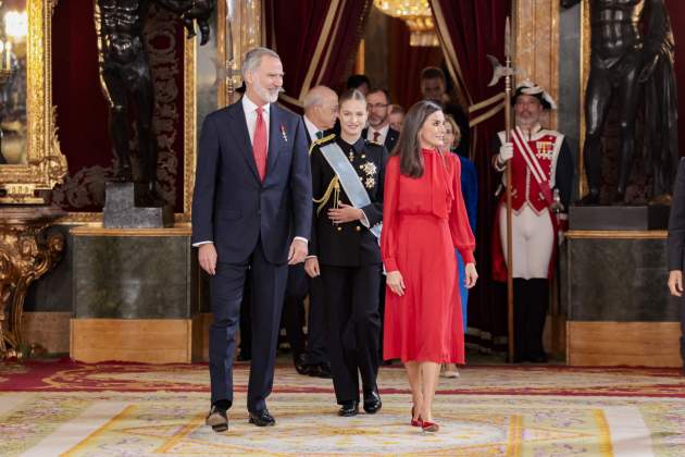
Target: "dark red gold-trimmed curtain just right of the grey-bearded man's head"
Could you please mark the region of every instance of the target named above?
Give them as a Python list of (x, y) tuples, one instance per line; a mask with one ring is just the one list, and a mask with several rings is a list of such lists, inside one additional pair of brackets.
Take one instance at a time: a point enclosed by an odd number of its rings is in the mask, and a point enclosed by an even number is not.
[(338, 87), (354, 58), (371, 0), (265, 1), (266, 46), (286, 73), (281, 100), (301, 111), (307, 91)]

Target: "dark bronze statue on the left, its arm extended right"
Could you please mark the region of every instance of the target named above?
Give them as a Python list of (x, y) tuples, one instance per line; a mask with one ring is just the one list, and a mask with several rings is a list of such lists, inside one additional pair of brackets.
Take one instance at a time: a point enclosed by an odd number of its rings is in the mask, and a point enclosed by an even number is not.
[(194, 22), (201, 33), (201, 44), (209, 39), (209, 17), (214, 0), (96, 0), (96, 28), (99, 38), (100, 75), (110, 102), (110, 137), (117, 159), (115, 181), (133, 181), (132, 138), (128, 110), (136, 114), (140, 182), (147, 193), (145, 205), (161, 206), (157, 185), (157, 139), (152, 128), (154, 97), (150, 64), (142, 37), (144, 24), (152, 3), (179, 15), (195, 36)]

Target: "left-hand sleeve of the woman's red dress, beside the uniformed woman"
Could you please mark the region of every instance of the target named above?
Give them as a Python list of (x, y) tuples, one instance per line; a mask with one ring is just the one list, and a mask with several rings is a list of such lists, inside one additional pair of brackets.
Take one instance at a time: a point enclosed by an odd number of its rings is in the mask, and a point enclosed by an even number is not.
[(381, 231), (381, 257), (386, 272), (397, 271), (397, 202), (399, 186), (399, 158), (391, 157), (385, 168), (383, 195), (383, 230)]

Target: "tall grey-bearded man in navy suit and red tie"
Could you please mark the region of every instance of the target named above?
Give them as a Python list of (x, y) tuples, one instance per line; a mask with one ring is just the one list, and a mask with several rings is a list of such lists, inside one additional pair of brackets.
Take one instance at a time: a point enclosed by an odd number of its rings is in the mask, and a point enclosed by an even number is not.
[(283, 85), (278, 54), (254, 48), (241, 69), (240, 101), (209, 114), (202, 125), (192, 200), (192, 243), (211, 276), (210, 378), (207, 424), (228, 428), (233, 357), (248, 268), (252, 279), (250, 423), (273, 425), (266, 397), (288, 264), (302, 262), (311, 232), (311, 172), (301, 118), (275, 104)]

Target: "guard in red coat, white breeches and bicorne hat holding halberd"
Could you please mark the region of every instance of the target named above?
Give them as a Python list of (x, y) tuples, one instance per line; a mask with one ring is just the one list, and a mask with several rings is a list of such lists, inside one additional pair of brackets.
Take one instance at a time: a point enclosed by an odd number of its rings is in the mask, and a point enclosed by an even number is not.
[[(515, 127), (510, 143), (500, 132), (493, 165), (503, 172), (511, 160), (512, 250), (514, 296), (514, 360), (546, 362), (543, 330), (549, 307), (549, 279), (553, 274), (558, 231), (572, 193), (574, 164), (559, 132), (543, 128), (540, 118), (556, 103), (541, 87), (526, 81), (512, 103)], [(502, 183), (505, 183), (502, 175)], [(493, 276), (507, 281), (507, 208), (503, 193), (493, 231)]]

